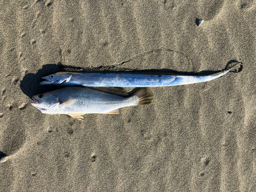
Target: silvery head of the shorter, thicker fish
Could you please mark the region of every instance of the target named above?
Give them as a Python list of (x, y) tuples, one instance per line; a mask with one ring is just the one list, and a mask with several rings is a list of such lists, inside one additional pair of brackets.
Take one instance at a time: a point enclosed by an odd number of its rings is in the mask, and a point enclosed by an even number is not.
[(41, 93), (32, 97), (33, 101), (31, 104), (35, 106), (42, 113), (54, 113), (58, 106), (58, 97), (51, 92)]

